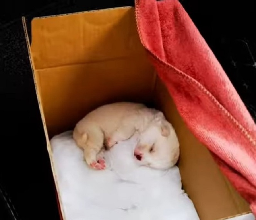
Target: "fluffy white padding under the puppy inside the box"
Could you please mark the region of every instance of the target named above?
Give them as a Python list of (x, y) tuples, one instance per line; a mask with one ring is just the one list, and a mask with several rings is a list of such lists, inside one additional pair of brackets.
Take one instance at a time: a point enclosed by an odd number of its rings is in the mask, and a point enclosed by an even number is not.
[(54, 167), (66, 220), (199, 220), (178, 167), (138, 167), (136, 137), (105, 153), (107, 169), (87, 167), (71, 132), (53, 137)]

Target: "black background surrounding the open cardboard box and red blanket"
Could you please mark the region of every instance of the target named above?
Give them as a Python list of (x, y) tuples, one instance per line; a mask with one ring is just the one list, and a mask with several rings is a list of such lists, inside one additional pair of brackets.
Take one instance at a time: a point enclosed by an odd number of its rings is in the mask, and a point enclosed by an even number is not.
[[(256, 1), (180, 2), (256, 121)], [(59, 219), (21, 16), (30, 24), (42, 15), (129, 5), (132, 0), (0, 2), (1, 220)]]

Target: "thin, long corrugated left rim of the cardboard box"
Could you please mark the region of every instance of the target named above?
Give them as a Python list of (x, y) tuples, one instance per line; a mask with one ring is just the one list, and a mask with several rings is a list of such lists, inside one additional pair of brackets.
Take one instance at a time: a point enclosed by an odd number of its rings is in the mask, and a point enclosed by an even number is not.
[(54, 183), (55, 183), (55, 187), (56, 187), (56, 191), (57, 191), (56, 194), (57, 194), (57, 197), (58, 197), (58, 202), (59, 202), (58, 205), (59, 205), (59, 209), (60, 209), (60, 212), (61, 212), (60, 215), (61, 215), (61, 218), (63, 220), (66, 220), (63, 205), (62, 205), (62, 200), (61, 200), (60, 193), (59, 193), (59, 186), (58, 186), (58, 182), (57, 182), (57, 176), (56, 176), (56, 172), (55, 172), (55, 168), (54, 168), (54, 164), (53, 164), (53, 155), (52, 155), (52, 150), (51, 150), (51, 147), (50, 147), (50, 140), (49, 140), (49, 136), (48, 136), (48, 132), (47, 132), (47, 128), (46, 128), (45, 118), (44, 118), (44, 114), (43, 114), (43, 108), (42, 108), (42, 105), (41, 105), (41, 98), (40, 98), (40, 94), (39, 94), (39, 91), (38, 91), (38, 86), (37, 86), (36, 80), (35, 80), (35, 72), (34, 72), (35, 68), (34, 68), (34, 63), (33, 63), (33, 59), (32, 59), (32, 56), (31, 56), (31, 47), (30, 47), (30, 43), (29, 43), (25, 17), (22, 17), (22, 24), (23, 24), (23, 30), (24, 30), (24, 34), (25, 34), (25, 38), (26, 38), (28, 55), (29, 55), (30, 65), (31, 65), (32, 74), (33, 74), (33, 80), (34, 80), (35, 89), (36, 89), (37, 101), (38, 101), (38, 105), (39, 105), (39, 110), (40, 110), (41, 119), (42, 119), (42, 123), (43, 123), (44, 134), (45, 134), (45, 138), (46, 138), (47, 151), (48, 151), (48, 154), (49, 154), (51, 170), (52, 170), (53, 179), (54, 179)]

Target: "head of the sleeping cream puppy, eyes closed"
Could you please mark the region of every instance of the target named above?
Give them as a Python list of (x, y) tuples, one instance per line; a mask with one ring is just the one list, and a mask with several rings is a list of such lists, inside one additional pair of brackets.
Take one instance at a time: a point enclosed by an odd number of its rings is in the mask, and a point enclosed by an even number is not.
[(168, 169), (177, 163), (178, 138), (174, 128), (161, 112), (156, 114), (149, 126), (140, 134), (134, 157), (139, 164), (156, 169)]

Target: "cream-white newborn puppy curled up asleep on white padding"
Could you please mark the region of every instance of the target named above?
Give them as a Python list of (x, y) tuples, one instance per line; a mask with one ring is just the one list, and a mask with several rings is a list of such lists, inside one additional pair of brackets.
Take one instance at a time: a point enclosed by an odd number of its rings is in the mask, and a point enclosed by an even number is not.
[(110, 149), (135, 132), (139, 134), (139, 141), (134, 157), (141, 165), (167, 169), (176, 164), (179, 143), (173, 127), (162, 112), (143, 104), (117, 102), (103, 105), (77, 123), (73, 138), (84, 150), (90, 167), (105, 169), (104, 146)]

